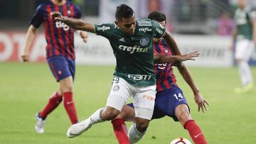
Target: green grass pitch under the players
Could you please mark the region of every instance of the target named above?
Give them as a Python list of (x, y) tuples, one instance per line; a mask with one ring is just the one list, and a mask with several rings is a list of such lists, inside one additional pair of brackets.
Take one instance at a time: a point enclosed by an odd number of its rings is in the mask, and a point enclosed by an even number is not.
[[(240, 80), (234, 68), (191, 68), (193, 79), (210, 104), (206, 113), (198, 113), (193, 93), (175, 69), (178, 85), (188, 99), (191, 115), (201, 127), (209, 144), (256, 143), (256, 87), (248, 94), (234, 94)], [(75, 77), (75, 104), (80, 120), (105, 106), (114, 67), (78, 66)], [(256, 78), (256, 67), (252, 67)], [(70, 126), (63, 104), (50, 113), (45, 133), (34, 131), (35, 113), (57, 88), (46, 63), (0, 63), (0, 143), (1, 144), (108, 144), (117, 143), (110, 122), (100, 123), (70, 139)], [(131, 123), (127, 123), (130, 126)], [(191, 140), (180, 123), (164, 117), (151, 121), (139, 143), (169, 144), (185, 137)]]

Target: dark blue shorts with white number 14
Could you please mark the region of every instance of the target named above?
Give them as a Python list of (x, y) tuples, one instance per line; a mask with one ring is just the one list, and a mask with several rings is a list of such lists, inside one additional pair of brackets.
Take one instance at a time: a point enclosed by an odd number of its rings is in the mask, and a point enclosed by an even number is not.
[[(178, 121), (178, 118), (175, 116), (175, 109), (180, 104), (186, 104), (188, 106), (188, 102), (181, 89), (175, 84), (171, 84), (171, 89), (156, 93), (154, 113), (151, 120), (170, 116), (174, 121)], [(134, 107), (133, 104), (127, 105)]]

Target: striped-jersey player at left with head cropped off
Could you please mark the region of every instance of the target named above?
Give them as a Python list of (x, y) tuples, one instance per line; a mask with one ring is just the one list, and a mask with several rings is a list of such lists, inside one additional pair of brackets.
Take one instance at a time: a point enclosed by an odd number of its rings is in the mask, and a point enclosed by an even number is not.
[[(51, 0), (38, 6), (31, 26), (26, 34), (26, 43), (21, 57), (28, 62), (31, 43), (36, 30), (43, 23), (46, 35), (46, 59), (53, 76), (58, 82), (58, 89), (50, 96), (48, 104), (36, 115), (36, 132), (43, 133), (46, 117), (63, 101), (64, 107), (72, 124), (78, 122), (73, 101), (73, 81), (75, 77), (74, 30), (65, 23), (50, 18), (50, 12), (59, 11), (63, 16), (80, 18), (81, 11), (75, 4), (66, 0)], [(80, 31), (80, 36), (87, 41), (87, 33)]]

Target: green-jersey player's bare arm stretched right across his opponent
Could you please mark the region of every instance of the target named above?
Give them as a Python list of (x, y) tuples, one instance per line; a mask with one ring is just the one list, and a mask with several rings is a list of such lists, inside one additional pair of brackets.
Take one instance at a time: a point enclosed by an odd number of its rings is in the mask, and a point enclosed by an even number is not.
[(193, 57), (198, 57), (199, 52), (191, 52), (186, 55), (154, 55), (154, 63), (169, 63), (169, 62), (182, 62), (185, 60), (195, 60)]

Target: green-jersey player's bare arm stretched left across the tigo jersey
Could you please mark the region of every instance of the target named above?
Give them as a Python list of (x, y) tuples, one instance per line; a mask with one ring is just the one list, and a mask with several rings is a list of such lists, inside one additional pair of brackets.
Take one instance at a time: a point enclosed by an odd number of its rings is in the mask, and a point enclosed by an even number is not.
[(58, 11), (51, 12), (50, 16), (51, 18), (54, 18), (56, 21), (61, 21), (76, 30), (95, 33), (95, 29), (92, 23), (85, 23), (84, 21), (78, 18), (68, 18), (66, 16), (62, 16), (61, 13)]

